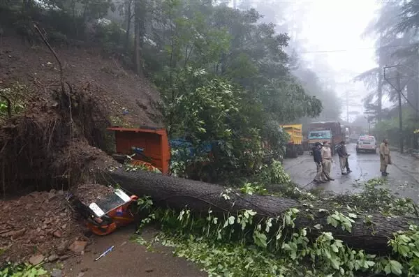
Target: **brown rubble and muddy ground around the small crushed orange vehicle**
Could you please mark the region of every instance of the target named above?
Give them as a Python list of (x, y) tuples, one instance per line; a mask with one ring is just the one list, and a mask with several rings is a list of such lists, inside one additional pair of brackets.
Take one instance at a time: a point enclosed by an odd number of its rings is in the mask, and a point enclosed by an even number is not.
[[(107, 193), (101, 185), (82, 185), (73, 193), (89, 189), (89, 200)], [(44, 268), (59, 269), (61, 277), (201, 277), (203, 271), (186, 260), (174, 257), (172, 249), (155, 246), (152, 252), (132, 241), (135, 225), (121, 228), (104, 237), (90, 235), (77, 214), (65, 200), (66, 192), (34, 192), (16, 200), (2, 202), (0, 217), (0, 266), (4, 261), (29, 261), (43, 257)], [(156, 230), (148, 228), (142, 234), (151, 239)], [(87, 246), (82, 251), (71, 250), (76, 242)], [(114, 250), (98, 261), (110, 246)]]

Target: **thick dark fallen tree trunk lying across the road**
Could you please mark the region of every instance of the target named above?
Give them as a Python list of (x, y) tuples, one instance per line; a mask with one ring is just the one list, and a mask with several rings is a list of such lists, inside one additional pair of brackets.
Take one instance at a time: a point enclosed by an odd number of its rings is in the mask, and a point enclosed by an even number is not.
[[(318, 203), (314, 208), (308, 208), (297, 200), (267, 195), (243, 195), (233, 190), (228, 193), (230, 199), (226, 200), (223, 193), (226, 188), (219, 185), (207, 184), (200, 181), (191, 181), (176, 177), (164, 176), (152, 172), (124, 172), (117, 170), (110, 173), (112, 180), (126, 189), (129, 193), (138, 196), (152, 197), (154, 204), (159, 207), (171, 209), (184, 209), (207, 214), (209, 209), (214, 212), (230, 213), (236, 215), (244, 209), (256, 211), (256, 219), (276, 218), (291, 208), (297, 208), (300, 213), (295, 219), (295, 227), (307, 227), (307, 233), (316, 237), (320, 232), (332, 232), (336, 239), (341, 239), (349, 247), (364, 249), (369, 253), (388, 253), (388, 239), (399, 230), (407, 230), (409, 224), (419, 224), (417, 218), (387, 217), (381, 214), (372, 214), (372, 224), (365, 223), (364, 216), (355, 218), (352, 223), (352, 232), (342, 230), (341, 226), (333, 227), (327, 223), (327, 217), (332, 211), (325, 212), (319, 209), (331, 209), (325, 204)], [(345, 211), (341, 211), (346, 214)], [(314, 218), (314, 219), (313, 219)], [(321, 230), (314, 226), (320, 224)]]

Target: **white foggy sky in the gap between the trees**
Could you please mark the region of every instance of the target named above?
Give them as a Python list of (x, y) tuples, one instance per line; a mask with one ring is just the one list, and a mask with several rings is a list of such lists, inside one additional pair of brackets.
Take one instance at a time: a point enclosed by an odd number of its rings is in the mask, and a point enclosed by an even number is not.
[[(335, 91), (346, 102), (346, 91), (352, 96), (349, 110), (363, 112), (362, 96), (367, 93), (365, 86), (353, 83), (353, 77), (374, 68), (374, 40), (362, 38), (362, 33), (378, 10), (378, 2), (372, 0), (313, 0), (310, 1), (307, 21), (303, 26), (303, 37), (307, 42), (307, 52), (302, 57), (313, 63), (324, 59), (332, 70), (316, 73), (328, 82), (337, 82)], [(316, 53), (316, 51), (318, 53)], [(357, 105), (358, 104), (358, 105)], [(346, 106), (342, 109), (346, 118)], [(355, 116), (350, 116), (354, 119)]]

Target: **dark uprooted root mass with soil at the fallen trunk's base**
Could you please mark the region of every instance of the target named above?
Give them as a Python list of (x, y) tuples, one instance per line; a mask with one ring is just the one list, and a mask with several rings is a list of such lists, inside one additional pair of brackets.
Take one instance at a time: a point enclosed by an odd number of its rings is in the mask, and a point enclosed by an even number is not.
[[(32, 97), (25, 112), (0, 128), (3, 193), (50, 190), (95, 180), (96, 170), (117, 165), (107, 149), (108, 110), (97, 91), (67, 84), (45, 102)], [(95, 148), (96, 147), (96, 148)]]

